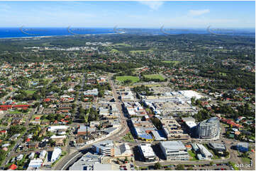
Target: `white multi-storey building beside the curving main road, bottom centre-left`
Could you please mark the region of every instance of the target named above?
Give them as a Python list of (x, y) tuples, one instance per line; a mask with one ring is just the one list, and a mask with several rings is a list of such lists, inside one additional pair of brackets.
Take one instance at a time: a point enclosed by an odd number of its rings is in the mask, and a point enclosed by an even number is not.
[(113, 141), (101, 141), (99, 143), (94, 144), (93, 149), (96, 153), (101, 155), (108, 155), (113, 157), (115, 154), (115, 148), (113, 146)]

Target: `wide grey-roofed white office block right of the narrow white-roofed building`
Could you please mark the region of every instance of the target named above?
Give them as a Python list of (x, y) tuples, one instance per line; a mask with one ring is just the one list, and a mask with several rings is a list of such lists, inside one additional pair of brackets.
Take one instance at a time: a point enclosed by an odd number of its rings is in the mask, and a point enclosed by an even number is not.
[(182, 141), (162, 141), (160, 148), (166, 160), (189, 160), (189, 153)]

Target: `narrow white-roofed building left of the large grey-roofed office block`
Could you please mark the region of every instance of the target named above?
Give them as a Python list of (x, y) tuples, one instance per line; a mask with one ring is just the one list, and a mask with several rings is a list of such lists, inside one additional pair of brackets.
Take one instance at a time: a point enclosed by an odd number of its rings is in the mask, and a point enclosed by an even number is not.
[(155, 161), (155, 152), (153, 151), (150, 143), (142, 143), (139, 145), (140, 153), (143, 155), (145, 162)]

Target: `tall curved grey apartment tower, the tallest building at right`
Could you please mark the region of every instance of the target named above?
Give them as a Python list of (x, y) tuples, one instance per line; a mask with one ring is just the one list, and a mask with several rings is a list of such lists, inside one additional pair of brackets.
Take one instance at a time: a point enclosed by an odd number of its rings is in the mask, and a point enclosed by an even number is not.
[(218, 117), (212, 117), (200, 122), (196, 126), (196, 134), (199, 138), (216, 138), (219, 136), (220, 121)]

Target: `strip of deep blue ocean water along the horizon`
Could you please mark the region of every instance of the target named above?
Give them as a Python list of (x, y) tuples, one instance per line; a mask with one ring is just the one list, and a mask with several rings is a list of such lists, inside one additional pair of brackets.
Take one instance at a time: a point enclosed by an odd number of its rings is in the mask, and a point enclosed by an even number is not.
[[(217, 31), (216, 31), (217, 30)], [(255, 28), (214, 30), (221, 35), (245, 35), (255, 37)], [(176, 35), (176, 34), (211, 34), (207, 29), (174, 28), (0, 28), (0, 38), (39, 37), (55, 35), (98, 35), (98, 34), (137, 34), (137, 35)]]

